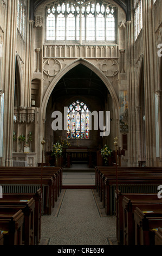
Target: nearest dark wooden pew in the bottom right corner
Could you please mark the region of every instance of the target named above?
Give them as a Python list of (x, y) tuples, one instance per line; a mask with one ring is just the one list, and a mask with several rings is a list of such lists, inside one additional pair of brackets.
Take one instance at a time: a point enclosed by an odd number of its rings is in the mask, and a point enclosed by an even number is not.
[(162, 227), (162, 210), (144, 213), (137, 207), (134, 222), (135, 245), (154, 245), (155, 230)]

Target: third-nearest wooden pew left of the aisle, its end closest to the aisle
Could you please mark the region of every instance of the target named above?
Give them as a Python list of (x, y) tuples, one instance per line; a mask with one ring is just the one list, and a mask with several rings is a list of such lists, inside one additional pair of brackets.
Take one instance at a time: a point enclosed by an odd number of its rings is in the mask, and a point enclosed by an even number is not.
[(35, 209), (34, 209), (34, 244), (38, 245), (38, 243), (41, 240), (41, 214), (40, 214), (40, 208), (41, 208), (41, 190), (39, 189), (36, 193), (15, 193), (15, 194), (4, 194), (3, 193), (3, 199), (0, 199), (0, 205), (1, 203), (7, 202), (7, 203), (13, 203), (15, 204), (18, 200), (30, 200), (31, 198), (34, 198), (35, 200)]

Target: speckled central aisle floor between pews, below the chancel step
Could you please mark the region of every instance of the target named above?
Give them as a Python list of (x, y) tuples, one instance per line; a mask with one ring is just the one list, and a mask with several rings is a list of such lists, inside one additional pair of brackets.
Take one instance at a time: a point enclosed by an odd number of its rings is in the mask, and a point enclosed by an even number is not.
[(62, 190), (50, 216), (42, 216), (42, 245), (108, 245), (115, 216), (102, 215), (93, 190)]

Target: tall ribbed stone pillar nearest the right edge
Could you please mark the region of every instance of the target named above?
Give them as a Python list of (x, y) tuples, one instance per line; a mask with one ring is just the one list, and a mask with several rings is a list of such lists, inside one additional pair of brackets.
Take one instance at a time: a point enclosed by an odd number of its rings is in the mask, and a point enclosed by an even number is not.
[(146, 166), (153, 166), (155, 156), (155, 65), (154, 31), (152, 1), (142, 1), (143, 45), (144, 45), (144, 80), (145, 80), (145, 116), (146, 116)]

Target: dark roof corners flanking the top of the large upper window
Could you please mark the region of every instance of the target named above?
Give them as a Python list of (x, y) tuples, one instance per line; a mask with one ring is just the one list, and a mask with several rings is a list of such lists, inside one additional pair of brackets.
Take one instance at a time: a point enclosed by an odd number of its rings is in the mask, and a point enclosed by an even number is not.
[[(113, 0), (125, 11), (127, 21), (130, 20), (130, 0)], [(34, 20), (34, 12), (36, 8), (43, 3), (44, 0), (30, 0), (30, 19)]]

